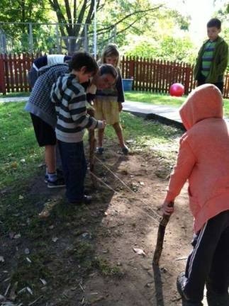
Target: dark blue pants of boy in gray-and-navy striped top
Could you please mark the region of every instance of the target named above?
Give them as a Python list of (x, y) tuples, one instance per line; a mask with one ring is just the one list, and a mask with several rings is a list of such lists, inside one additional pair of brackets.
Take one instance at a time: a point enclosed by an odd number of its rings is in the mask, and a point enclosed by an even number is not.
[(58, 140), (58, 145), (65, 176), (66, 196), (70, 203), (74, 203), (84, 197), (84, 179), (86, 176), (84, 143)]

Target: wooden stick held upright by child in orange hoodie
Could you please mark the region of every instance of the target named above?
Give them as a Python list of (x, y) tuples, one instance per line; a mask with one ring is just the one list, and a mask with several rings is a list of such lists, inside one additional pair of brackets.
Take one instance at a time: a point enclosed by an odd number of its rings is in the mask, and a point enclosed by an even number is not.
[[(173, 206), (174, 206), (174, 202), (170, 202), (169, 207), (173, 207)], [(155, 254), (152, 259), (152, 265), (158, 266), (158, 263), (160, 261), (160, 256), (162, 254), (162, 249), (163, 249), (165, 227), (167, 226), (169, 222), (169, 218), (170, 218), (170, 215), (163, 215), (162, 219), (160, 220), (160, 225), (157, 231), (157, 244), (155, 248)]]

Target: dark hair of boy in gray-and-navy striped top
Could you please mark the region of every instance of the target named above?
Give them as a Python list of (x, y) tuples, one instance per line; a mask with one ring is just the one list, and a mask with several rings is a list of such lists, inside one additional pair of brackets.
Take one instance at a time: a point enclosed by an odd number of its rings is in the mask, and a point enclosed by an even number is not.
[(96, 60), (88, 52), (75, 52), (72, 60), (69, 61), (69, 71), (73, 69), (79, 71), (82, 67), (86, 67), (86, 72), (94, 72), (94, 74), (99, 69)]

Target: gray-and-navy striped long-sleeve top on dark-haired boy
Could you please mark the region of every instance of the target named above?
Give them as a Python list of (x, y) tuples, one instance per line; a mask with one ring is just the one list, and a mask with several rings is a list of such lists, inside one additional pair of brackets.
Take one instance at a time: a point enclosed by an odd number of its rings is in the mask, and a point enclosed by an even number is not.
[(96, 128), (101, 122), (86, 115), (86, 93), (74, 74), (65, 74), (52, 86), (52, 102), (55, 103), (57, 140), (81, 142), (84, 128)]

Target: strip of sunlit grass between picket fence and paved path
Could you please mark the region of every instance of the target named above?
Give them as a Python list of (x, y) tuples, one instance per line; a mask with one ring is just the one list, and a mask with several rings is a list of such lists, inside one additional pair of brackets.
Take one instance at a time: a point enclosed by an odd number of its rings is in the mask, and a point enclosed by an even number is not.
[[(125, 100), (150, 103), (155, 105), (181, 106), (185, 101), (186, 96), (172, 97), (168, 94), (154, 94), (145, 91), (126, 91)], [(229, 100), (223, 99), (223, 112), (225, 117), (229, 117)]]

